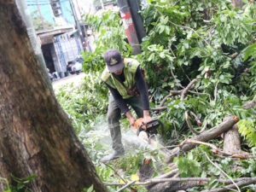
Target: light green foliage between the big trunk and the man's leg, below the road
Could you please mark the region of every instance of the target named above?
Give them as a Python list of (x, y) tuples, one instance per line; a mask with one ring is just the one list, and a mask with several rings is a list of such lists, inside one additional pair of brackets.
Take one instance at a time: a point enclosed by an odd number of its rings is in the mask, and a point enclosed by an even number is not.
[(100, 74), (89, 73), (85, 75), (84, 81), (90, 82), (90, 84), (81, 84), (79, 88), (75, 88), (71, 84), (56, 92), (61, 107), (72, 119), (77, 133), (80, 130), (89, 130), (91, 126), (101, 120), (101, 114), (107, 113), (108, 90), (104, 89)]

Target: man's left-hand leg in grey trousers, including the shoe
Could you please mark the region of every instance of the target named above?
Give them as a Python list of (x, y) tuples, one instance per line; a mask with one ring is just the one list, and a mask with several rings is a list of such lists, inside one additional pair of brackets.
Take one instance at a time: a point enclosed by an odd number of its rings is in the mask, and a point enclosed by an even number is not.
[(121, 118), (121, 111), (113, 99), (109, 96), (108, 99), (108, 128), (112, 138), (113, 154), (102, 159), (102, 162), (116, 159), (119, 155), (125, 154), (124, 146), (122, 144), (122, 135), (120, 130), (119, 119)]

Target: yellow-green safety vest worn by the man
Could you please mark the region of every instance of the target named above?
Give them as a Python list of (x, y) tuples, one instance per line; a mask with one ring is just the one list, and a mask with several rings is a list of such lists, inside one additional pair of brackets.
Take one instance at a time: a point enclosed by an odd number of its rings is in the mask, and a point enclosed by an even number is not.
[(108, 67), (102, 73), (102, 81), (106, 82), (113, 89), (119, 91), (119, 94), (124, 98), (128, 99), (131, 97), (127, 93), (127, 90), (132, 90), (136, 84), (135, 82), (135, 73), (137, 71), (137, 67), (140, 65), (137, 60), (131, 58), (125, 58), (124, 60), (124, 75), (125, 81), (124, 83), (120, 83), (118, 79), (115, 79), (113, 74), (108, 71)]

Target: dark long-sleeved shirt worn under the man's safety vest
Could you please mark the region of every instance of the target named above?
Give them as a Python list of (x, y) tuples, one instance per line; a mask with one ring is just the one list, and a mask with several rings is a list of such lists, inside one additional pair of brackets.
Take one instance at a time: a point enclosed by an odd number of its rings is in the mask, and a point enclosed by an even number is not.
[[(116, 79), (118, 79), (120, 82), (125, 81), (124, 72), (120, 75), (116, 75), (113, 73), (113, 76)], [(143, 73), (140, 67), (137, 67), (137, 71), (135, 73), (135, 81), (136, 81), (135, 85), (137, 86), (137, 90), (140, 93), (141, 101), (143, 103), (143, 110), (149, 110), (148, 87), (144, 80)], [(119, 94), (119, 91), (117, 89), (113, 89), (113, 87), (109, 86), (108, 84), (107, 86), (110, 92), (112, 93), (115, 102), (117, 102), (119, 108), (121, 109), (121, 111), (123, 113), (128, 112), (129, 108), (127, 106), (127, 103), (125, 102), (125, 99), (123, 99), (123, 97)]]

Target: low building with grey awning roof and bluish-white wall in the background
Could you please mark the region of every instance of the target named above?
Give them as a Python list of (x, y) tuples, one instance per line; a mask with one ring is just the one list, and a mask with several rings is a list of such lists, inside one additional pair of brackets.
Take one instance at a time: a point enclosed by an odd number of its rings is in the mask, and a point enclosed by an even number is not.
[(49, 72), (63, 78), (67, 75), (67, 62), (77, 59), (83, 50), (78, 32), (73, 27), (61, 27), (37, 35)]

